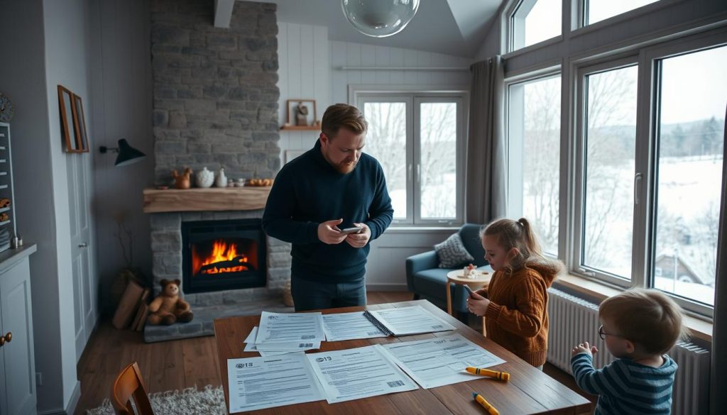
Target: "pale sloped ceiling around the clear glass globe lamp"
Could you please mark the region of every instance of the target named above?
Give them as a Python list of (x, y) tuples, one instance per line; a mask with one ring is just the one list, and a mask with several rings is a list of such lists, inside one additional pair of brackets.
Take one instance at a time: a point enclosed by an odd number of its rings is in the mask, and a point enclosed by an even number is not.
[(425, 50), (475, 57), (502, 0), (421, 0), (403, 31), (386, 38), (358, 33), (343, 15), (340, 0), (258, 0), (278, 4), (278, 21), (328, 27), (332, 41)]

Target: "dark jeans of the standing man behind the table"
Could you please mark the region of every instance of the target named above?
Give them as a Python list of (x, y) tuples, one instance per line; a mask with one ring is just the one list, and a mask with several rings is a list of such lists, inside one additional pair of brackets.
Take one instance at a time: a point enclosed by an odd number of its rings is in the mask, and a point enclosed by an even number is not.
[(366, 280), (353, 283), (318, 283), (295, 278), (290, 281), (295, 311), (366, 305)]

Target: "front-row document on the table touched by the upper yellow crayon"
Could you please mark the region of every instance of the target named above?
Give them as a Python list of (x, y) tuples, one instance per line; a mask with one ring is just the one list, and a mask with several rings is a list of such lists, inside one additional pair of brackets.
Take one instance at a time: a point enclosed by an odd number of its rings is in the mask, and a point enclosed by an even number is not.
[(425, 388), (478, 379), (465, 371), (467, 366), (486, 368), (505, 363), (491, 352), (452, 334), (435, 339), (383, 345), (411, 379)]

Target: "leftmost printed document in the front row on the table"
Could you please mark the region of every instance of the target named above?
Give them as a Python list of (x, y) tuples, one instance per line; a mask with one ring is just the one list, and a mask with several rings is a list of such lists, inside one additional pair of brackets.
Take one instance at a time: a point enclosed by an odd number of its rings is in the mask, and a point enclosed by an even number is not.
[(230, 413), (324, 399), (303, 352), (228, 359), (228, 382)]

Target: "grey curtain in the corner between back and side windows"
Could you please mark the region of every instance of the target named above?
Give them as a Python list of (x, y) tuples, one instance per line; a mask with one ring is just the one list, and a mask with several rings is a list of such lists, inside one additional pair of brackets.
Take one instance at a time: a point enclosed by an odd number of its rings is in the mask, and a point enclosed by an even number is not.
[(465, 220), (487, 223), (507, 213), (502, 57), (473, 63), (467, 137)]

